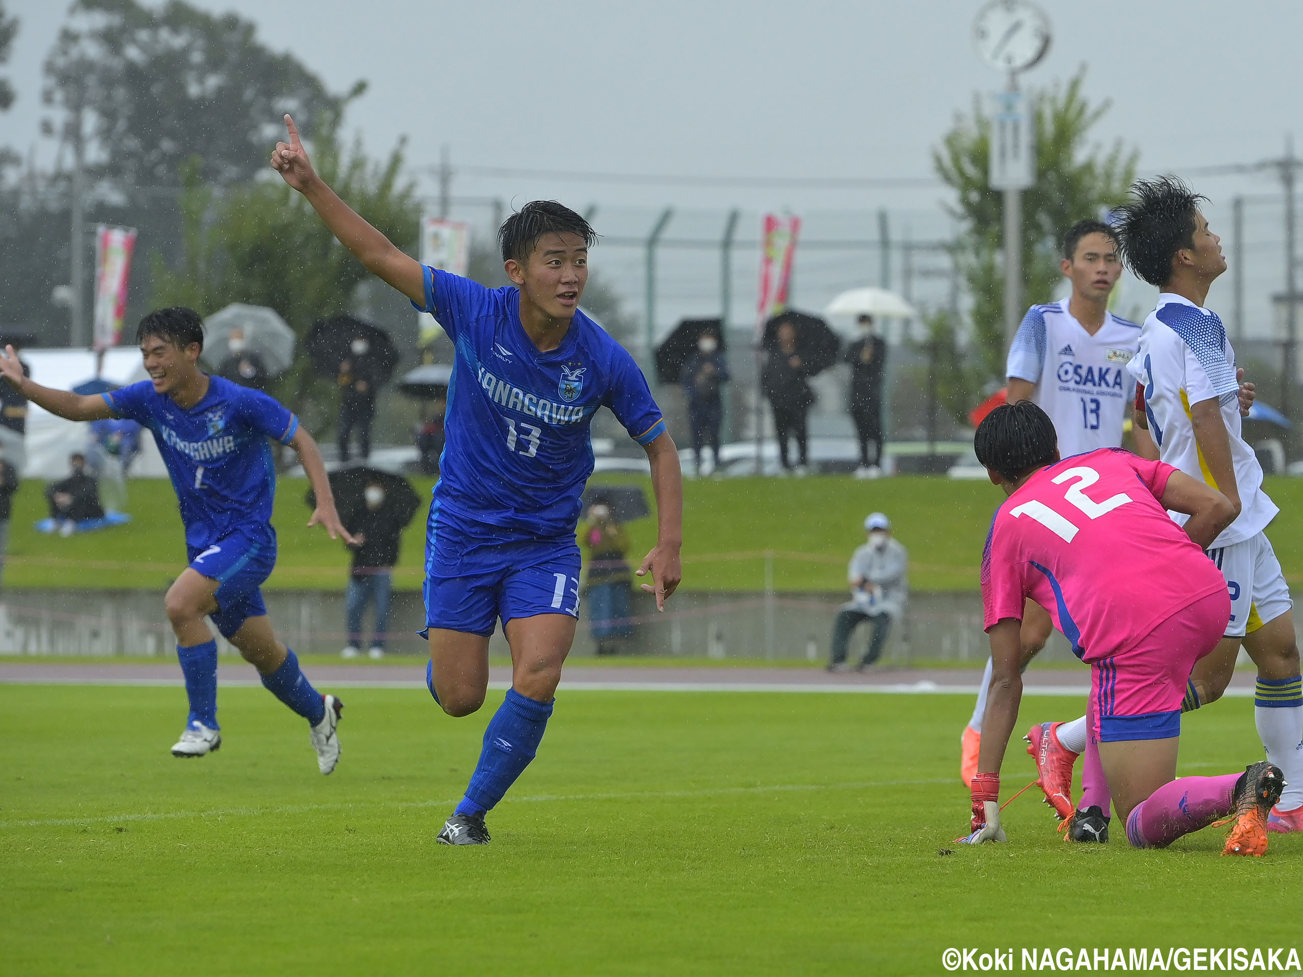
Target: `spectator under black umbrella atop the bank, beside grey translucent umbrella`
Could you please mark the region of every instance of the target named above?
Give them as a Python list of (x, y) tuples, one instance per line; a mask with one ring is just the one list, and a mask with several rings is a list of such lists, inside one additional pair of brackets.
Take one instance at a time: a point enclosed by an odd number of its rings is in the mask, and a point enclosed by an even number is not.
[(357, 429), (358, 453), (371, 453), (375, 395), (388, 383), (399, 354), (390, 335), (352, 315), (318, 320), (305, 340), (317, 371), (340, 388), (339, 460), (349, 460), (349, 439)]

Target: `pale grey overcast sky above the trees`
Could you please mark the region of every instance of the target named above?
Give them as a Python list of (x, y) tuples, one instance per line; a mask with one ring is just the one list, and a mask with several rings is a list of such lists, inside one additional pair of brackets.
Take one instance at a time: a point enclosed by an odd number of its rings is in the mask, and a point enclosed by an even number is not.
[[(370, 82), (348, 120), (374, 151), (400, 134), (413, 167), (453, 163), (615, 173), (929, 176), (956, 109), (999, 76), (973, 51), (971, 0), (911, 3), (442, 3), (192, 0), (235, 9), (335, 90)], [(1044, 3), (1045, 85), (1089, 68), (1111, 99), (1101, 138), (1147, 171), (1252, 162), (1298, 128), (1295, 1)], [(40, 64), (66, 5), (9, 0), (22, 26), (4, 142), (38, 141)], [(1251, 10), (1251, 13), (1246, 13)], [(1174, 16), (1175, 12), (1175, 16)], [(1199, 177), (1217, 194), (1257, 177)], [(433, 186), (433, 185), (431, 185)], [(457, 194), (555, 194), (679, 206), (929, 206), (937, 190), (576, 184), (461, 172)]]

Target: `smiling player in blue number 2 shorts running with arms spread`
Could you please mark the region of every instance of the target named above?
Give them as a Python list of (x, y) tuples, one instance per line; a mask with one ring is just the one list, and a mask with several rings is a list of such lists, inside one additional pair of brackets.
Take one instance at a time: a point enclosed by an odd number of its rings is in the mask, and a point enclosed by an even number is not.
[(258, 670), (262, 684), (308, 720), (318, 769), (328, 774), (339, 762), (336, 726), (344, 703), (317, 692), (294, 653), (276, 640), (259, 590), (276, 563), (270, 521), (276, 472), (268, 438), (292, 447), (304, 462), (317, 492), (309, 525), (352, 541), (335, 512), (317, 442), (266, 393), (199, 369), (203, 322), (192, 309), (150, 313), (136, 339), (150, 379), (111, 393), (81, 396), (33, 383), (22, 375), (13, 347), (0, 357), (0, 375), (59, 417), (129, 418), (154, 435), (176, 488), (190, 560), (164, 598), (190, 700), (172, 756), (203, 757), (222, 745), (218, 646), (203, 621), (207, 615)]

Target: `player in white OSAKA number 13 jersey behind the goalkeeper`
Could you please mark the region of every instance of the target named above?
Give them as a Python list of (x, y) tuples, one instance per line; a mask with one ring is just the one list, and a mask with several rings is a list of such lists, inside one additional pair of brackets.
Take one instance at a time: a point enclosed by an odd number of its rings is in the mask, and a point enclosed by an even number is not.
[[(1109, 294), (1122, 275), (1113, 229), (1098, 220), (1080, 220), (1063, 236), (1063, 276), (1072, 294), (1059, 302), (1033, 305), (1009, 350), (1009, 403), (1035, 401), (1054, 422), (1063, 457), (1122, 444), (1135, 379), (1127, 363), (1136, 353), (1140, 327), (1109, 311)], [(1143, 435), (1141, 435), (1143, 436)], [(1023, 667), (1045, 647), (1054, 625), (1049, 614), (1028, 602), (1023, 616)], [(972, 718), (964, 727), (960, 778), (977, 772), (982, 715), (990, 687), (986, 659)], [(1066, 727), (1066, 728), (1065, 728)], [(1061, 724), (1075, 753), (1085, 749), (1085, 723)]]

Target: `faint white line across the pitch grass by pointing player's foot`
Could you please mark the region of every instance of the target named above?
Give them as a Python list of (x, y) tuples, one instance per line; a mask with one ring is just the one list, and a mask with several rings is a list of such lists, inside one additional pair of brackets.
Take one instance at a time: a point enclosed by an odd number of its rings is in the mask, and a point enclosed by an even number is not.
[[(539, 793), (526, 797), (507, 797), (503, 804), (545, 804), (552, 801), (618, 801), (657, 800), (670, 797), (727, 797), (747, 793), (790, 793), (796, 791), (872, 791), (885, 787), (916, 787), (923, 784), (949, 784), (952, 778), (930, 780), (856, 780), (838, 784), (760, 784), (756, 787), (717, 787), (700, 791), (625, 791), (618, 793)], [(0, 821), (7, 827), (76, 827), (78, 825), (115, 825), (134, 821), (180, 821), (184, 818), (254, 817), (266, 814), (308, 814), (319, 810), (358, 810), (364, 808), (446, 808), (460, 797), (446, 801), (364, 801), (357, 804), (298, 804), (280, 808), (225, 808), (220, 810), (173, 810), (154, 814), (117, 814), (95, 818), (50, 818), (46, 821)]]

